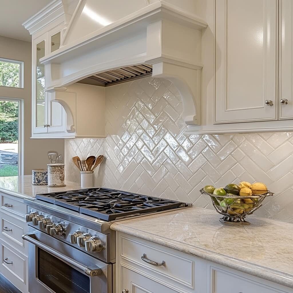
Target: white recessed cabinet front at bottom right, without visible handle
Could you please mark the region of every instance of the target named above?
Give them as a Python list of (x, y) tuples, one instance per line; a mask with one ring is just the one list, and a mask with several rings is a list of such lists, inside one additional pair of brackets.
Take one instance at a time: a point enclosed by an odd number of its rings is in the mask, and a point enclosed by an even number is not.
[(245, 277), (211, 267), (211, 293), (284, 293)]

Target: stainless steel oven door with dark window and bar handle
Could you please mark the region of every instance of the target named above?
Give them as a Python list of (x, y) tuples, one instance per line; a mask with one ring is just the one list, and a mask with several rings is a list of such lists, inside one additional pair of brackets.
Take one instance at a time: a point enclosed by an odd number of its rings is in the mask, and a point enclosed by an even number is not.
[(23, 235), (29, 242), (30, 293), (112, 293), (112, 265), (41, 231)]

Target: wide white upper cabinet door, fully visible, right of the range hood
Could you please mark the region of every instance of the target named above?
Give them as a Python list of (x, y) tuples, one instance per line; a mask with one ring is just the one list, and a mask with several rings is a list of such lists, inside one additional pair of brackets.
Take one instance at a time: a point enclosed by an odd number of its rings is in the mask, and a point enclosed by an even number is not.
[(215, 5), (214, 123), (277, 120), (278, 1)]

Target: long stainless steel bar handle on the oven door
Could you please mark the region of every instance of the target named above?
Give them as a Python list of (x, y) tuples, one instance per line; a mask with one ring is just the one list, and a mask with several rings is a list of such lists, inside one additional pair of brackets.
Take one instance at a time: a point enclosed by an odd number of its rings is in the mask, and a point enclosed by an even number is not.
[(25, 233), (22, 236), (22, 239), (32, 243), (35, 246), (38, 246), (42, 250), (46, 251), (47, 253), (50, 253), (54, 257), (58, 258), (59, 260), (62, 260), (67, 265), (70, 265), (72, 268), (75, 268), (76, 270), (84, 273), (85, 275), (88, 275), (90, 277), (96, 277), (96, 276), (101, 274), (102, 270), (97, 265), (87, 267), (86, 265), (83, 265), (83, 264), (73, 260), (72, 258), (69, 258), (68, 256), (66, 256), (66, 255), (64, 255), (64, 254), (62, 254), (60, 252), (56, 252), (53, 248), (51, 248), (51, 247), (43, 244), (42, 242), (38, 241), (36, 239), (36, 234), (37, 233), (38, 233), (38, 231)]

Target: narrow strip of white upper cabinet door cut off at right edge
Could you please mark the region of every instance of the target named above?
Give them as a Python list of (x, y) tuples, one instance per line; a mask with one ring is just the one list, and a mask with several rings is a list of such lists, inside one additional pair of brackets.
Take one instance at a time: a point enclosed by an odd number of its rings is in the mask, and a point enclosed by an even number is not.
[(280, 119), (293, 119), (293, 2), (281, 0), (280, 4), (279, 115)]

